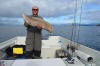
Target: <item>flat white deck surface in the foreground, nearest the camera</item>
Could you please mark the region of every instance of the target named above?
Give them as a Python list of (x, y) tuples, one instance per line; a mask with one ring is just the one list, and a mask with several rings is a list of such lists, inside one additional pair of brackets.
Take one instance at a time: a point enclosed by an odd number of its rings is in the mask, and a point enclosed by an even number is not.
[(69, 64), (65, 58), (2, 60), (2, 62), (5, 66), (85, 66), (77, 58), (75, 59), (74, 64)]

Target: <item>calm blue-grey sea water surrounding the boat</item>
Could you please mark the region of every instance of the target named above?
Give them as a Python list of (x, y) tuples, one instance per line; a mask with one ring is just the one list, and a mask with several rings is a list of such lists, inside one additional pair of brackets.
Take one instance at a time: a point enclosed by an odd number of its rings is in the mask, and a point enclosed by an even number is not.
[[(24, 26), (0, 26), (0, 42), (13, 38), (15, 36), (25, 36), (26, 28)], [(47, 39), (50, 35), (63, 36), (71, 39), (72, 27), (66, 25), (53, 26), (53, 33), (42, 31), (42, 38)], [(75, 37), (77, 41), (77, 35)], [(81, 26), (79, 43), (100, 51), (100, 26)]]

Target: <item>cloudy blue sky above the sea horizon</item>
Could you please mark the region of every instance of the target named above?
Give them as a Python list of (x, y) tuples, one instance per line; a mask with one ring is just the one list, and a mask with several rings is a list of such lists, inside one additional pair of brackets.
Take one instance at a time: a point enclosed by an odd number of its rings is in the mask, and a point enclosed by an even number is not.
[[(77, 0), (76, 23), (80, 22), (81, 2)], [(0, 0), (0, 24), (23, 24), (22, 14), (31, 15), (33, 6), (51, 24), (74, 22), (76, 0)], [(100, 24), (100, 0), (83, 0), (82, 24)]]

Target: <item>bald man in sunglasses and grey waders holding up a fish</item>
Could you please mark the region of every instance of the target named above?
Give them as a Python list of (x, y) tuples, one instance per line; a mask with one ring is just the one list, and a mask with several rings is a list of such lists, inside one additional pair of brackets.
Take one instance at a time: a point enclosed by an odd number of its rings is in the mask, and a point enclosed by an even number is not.
[[(32, 7), (32, 14), (30, 17), (37, 17), (41, 18), (38, 16), (38, 7), (34, 6)], [(34, 58), (34, 57), (40, 57), (41, 55), (41, 31), (42, 28), (41, 26), (31, 26), (24, 22), (25, 27), (27, 27), (27, 37), (26, 37), (26, 53), (25, 57), (26, 58)]]

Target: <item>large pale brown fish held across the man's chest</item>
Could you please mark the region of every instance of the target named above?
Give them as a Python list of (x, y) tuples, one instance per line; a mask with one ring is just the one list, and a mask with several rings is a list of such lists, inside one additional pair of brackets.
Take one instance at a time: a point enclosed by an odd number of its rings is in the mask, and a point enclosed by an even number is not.
[(28, 15), (26, 15), (25, 13), (22, 15), (24, 20), (31, 26), (41, 26), (43, 29), (52, 32), (52, 26), (44, 21), (43, 19), (40, 18), (36, 18), (36, 17), (30, 17)]

